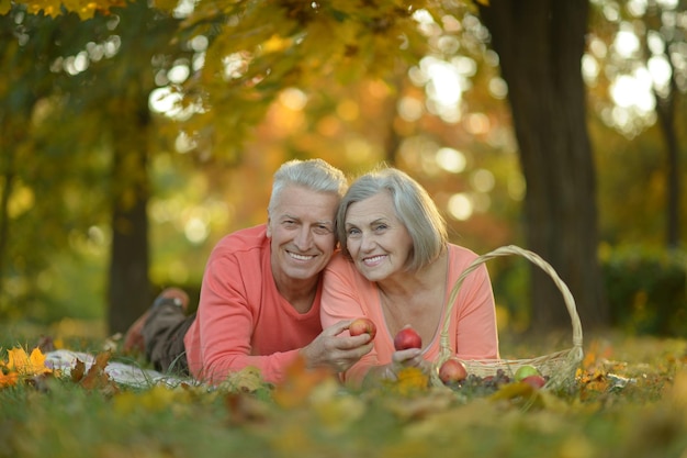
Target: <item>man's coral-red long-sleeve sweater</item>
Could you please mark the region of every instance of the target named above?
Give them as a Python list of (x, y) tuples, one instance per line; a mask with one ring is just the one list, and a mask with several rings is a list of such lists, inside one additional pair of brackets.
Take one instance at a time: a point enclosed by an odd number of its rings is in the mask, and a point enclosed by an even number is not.
[(322, 332), (319, 284), (313, 308), (296, 312), (277, 290), (266, 225), (225, 236), (210, 255), (184, 336), (191, 375), (215, 383), (254, 366), (267, 381), (282, 381), (299, 349)]

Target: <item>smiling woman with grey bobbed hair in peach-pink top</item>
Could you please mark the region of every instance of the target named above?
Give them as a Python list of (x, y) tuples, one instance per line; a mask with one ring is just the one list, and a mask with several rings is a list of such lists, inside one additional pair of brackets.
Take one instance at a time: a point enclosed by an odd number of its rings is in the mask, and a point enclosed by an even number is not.
[[(403, 367), (428, 370), (439, 355), (451, 288), (476, 255), (448, 242), (446, 222), (427, 191), (394, 168), (358, 178), (336, 223), (341, 253), (325, 270), (323, 326), (367, 316), (378, 327), (372, 350), (342, 372), (342, 380), (360, 387), (394, 379)], [(494, 295), (484, 265), (461, 286), (450, 320), (450, 345), (458, 357), (498, 357)], [(406, 326), (420, 335), (423, 348), (394, 349), (394, 337)]]

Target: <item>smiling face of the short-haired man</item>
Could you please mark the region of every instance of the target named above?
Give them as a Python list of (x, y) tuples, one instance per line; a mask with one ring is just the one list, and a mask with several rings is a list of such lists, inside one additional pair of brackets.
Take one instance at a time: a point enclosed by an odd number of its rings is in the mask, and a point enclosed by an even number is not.
[(329, 262), (335, 248), (334, 221), (339, 198), (333, 193), (286, 187), (270, 214), (274, 281), (309, 280)]

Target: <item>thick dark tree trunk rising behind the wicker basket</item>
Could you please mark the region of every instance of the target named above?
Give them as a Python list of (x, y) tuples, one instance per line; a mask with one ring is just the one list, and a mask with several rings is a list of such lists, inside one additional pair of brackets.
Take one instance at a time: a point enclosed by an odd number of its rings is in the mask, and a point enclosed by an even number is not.
[[(549, 261), (575, 298), (583, 327), (608, 324), (597, 259), (596, 179), (586, 130), (581, 59), (587, 0), (492, 0), (483, 23), (508, 83), (527, 182), (527, 246)], [(570, 328), (549, 276), (532, 267), (537, 329)]]

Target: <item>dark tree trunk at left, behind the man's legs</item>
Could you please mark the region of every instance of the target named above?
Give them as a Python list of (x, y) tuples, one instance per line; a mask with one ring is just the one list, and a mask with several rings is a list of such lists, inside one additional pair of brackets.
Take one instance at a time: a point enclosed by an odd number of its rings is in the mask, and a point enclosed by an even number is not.
[(123, 116), (116, 122), (108, 292), (110, 333), (125, 332), (151, 301), (146, 212), (149, 197), (147, 132), (150, 122), (147, 107), (142, 107), (137, 116)]

